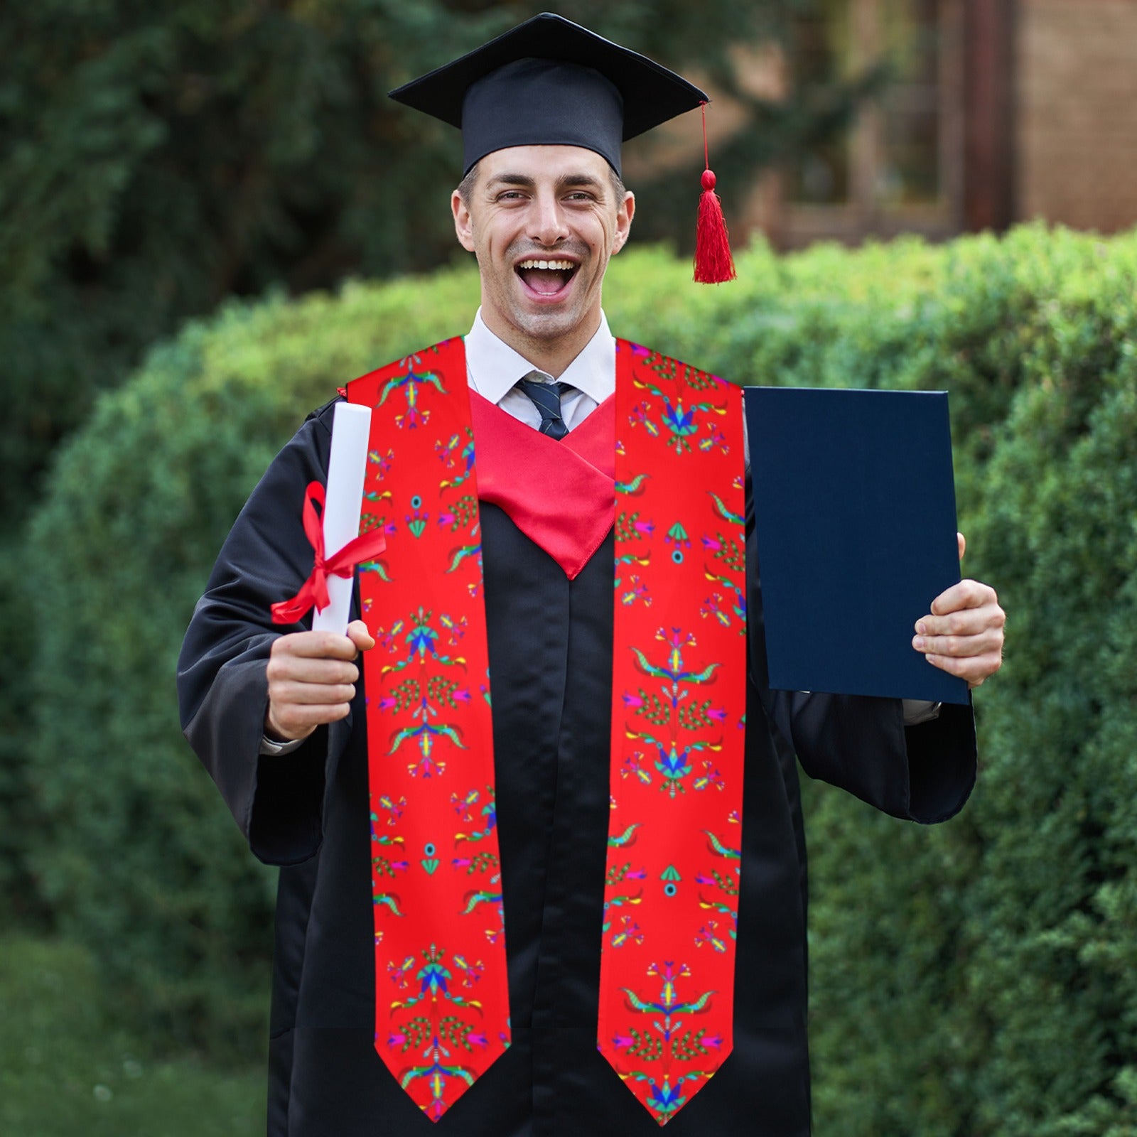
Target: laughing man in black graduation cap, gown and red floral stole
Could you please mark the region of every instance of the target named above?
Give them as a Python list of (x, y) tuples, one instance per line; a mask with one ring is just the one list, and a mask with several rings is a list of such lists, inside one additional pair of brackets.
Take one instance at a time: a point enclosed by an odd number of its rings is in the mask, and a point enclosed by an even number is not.
[[(608, 330), (621, 141), (705, 96), (548, 15), (393, 94), (462, 128), (481, 308), (348, 385), (387, 547), (347, 636), (269, 615), (313, 567), (329, 404), (179, 670), (186, 737), (282, 866), (269, 1132), (805, 1137), (795, 753), (940, 821), (970, 707), (769, 688), (740, 393)], [(987, 586), (912, 619), (935, 665), (999, 666)]]

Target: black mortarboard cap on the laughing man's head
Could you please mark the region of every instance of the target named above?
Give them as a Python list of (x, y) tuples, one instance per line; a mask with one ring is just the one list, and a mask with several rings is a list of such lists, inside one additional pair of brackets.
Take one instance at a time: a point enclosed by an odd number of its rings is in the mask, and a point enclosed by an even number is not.
[(391, 91), (462, 130), (464, 172), (513, 146), (579, 146), (620, 173), (620, 143), (707, 102), (682, 76), (542, 13)]

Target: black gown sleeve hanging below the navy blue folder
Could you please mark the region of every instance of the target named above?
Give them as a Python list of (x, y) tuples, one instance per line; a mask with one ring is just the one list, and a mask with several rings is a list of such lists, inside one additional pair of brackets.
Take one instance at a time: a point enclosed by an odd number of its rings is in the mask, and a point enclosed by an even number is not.
[(775, 744), (796, 753), (811, 778), (838, 786), (895, 818), (930, 824), (958, 813), (976, 781), (970, 703), (945, 703), (938, 717), (905, 727), (898, 698), (770, 688), (749, 493), (746, 520), (750, 674)]

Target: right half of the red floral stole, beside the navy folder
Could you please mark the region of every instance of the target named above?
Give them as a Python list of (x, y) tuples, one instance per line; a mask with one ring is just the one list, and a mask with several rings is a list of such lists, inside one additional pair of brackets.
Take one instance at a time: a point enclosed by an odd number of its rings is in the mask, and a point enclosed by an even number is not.
[(738, 861), (716, 831), (742, 795), (741, 392), (623, 341), (616, 368), (614, 640), (628, 646), (613, 661), (597, 1041), (665, 1124), (732, 1046)]

